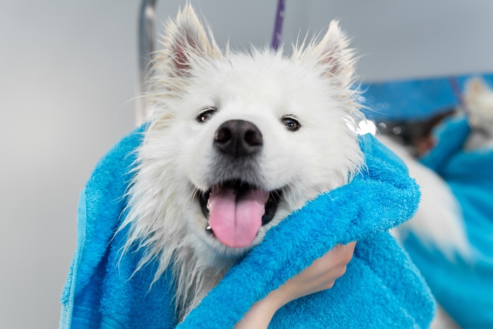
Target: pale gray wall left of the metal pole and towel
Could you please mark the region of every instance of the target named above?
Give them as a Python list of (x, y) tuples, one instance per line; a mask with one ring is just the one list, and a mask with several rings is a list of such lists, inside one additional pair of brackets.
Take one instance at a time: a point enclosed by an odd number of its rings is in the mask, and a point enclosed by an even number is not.
[(2, 329), (58, 326), (79, 191), (134, 126), (137, 8), (0, 1)]

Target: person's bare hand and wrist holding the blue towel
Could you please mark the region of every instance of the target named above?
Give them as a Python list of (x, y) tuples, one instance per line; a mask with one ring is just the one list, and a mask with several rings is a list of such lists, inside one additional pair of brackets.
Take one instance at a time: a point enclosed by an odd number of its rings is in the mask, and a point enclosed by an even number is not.
[(346, 272), (356, 241), (338, 245), (324, 256), (316, 259), (300, 274), (285, 282), (279, 289), (252, 305), (235, 329), (264, 329), (278, 309), (296, 298), (332, 288), (335, 280)]

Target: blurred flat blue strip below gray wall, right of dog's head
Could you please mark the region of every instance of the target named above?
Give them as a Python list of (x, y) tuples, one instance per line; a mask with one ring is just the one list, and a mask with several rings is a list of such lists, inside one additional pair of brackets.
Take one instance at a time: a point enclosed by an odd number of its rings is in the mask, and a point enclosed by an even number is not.
[[(460, 75), (456, 79), (462, 92), (472, 76), (483, 77), (493, 87), (491, 73)], [(459, 104), (449, 77), (368, 83), (361, 90), (365, 93), (360, 103), (368, 107), (365, 115), (374, 120), (420, 120)]]

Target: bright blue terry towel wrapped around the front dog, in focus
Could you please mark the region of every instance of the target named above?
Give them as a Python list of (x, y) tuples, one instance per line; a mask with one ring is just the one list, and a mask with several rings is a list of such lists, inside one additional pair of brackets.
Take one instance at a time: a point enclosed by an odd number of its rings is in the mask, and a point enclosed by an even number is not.
[(417, 268), (387, 233), (411, 218), (420, 192), (404, 164), (367, 134), (366, 167), (270, 229), (181, 324), (171, 272), (150, 287), (156, 264), (134, 275), (141, 252), (120, 259), (128, 174), (144, 128), (98, 163), (81, 193), (77, 251), (62, 293), (60, 328), (230, 329), (250, 306), (337, 244), (358, 240), (346, 274), (330, 290), (282, 307), (269, 328), (428, 328), (435, 305)]

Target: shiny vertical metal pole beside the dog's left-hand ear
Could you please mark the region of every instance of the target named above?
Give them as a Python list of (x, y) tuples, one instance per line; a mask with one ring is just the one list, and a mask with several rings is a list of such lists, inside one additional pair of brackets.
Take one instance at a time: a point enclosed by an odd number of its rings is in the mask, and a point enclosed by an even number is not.
[(147, 91), (151, 54), (154, 51), (154, 8), (156, 0), (142, 0), (139, 13), (139, 73), (136, 86), (135, 122), (139, 126), (145, 117), (146, 105), (141, 95)]

